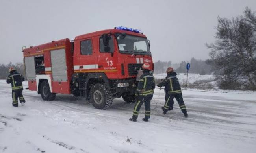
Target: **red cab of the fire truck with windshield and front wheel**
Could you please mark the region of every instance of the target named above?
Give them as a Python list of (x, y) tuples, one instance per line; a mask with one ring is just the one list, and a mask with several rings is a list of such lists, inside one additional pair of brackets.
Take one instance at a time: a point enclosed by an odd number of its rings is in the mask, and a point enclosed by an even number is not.
[[(139, 30), (125, 27), (77, 36), (73, 61), (72, 93), (86, 96), (99, 109), (105, 109), (112, 98), (121, 96), (128, 103), (135, 102), (137, 71), (143, 63), (153, 68), (147, 37)], [(107, 101), (99, 88), (108, 90), (112, 98)], [(101, 105), (102, 99), (106, 104)]]

